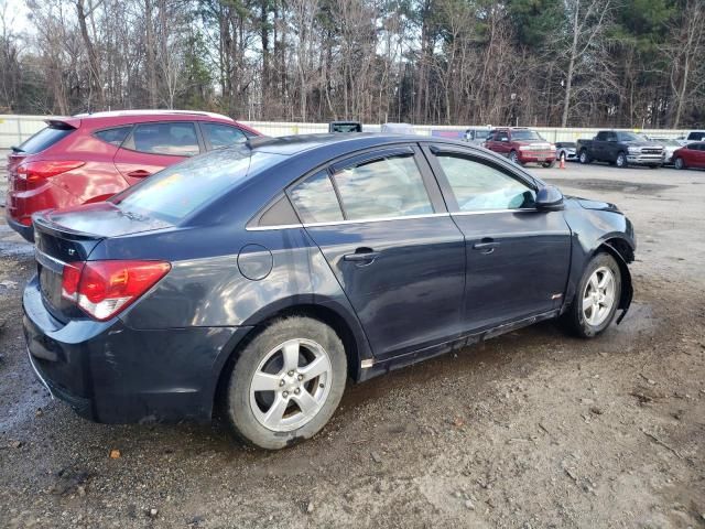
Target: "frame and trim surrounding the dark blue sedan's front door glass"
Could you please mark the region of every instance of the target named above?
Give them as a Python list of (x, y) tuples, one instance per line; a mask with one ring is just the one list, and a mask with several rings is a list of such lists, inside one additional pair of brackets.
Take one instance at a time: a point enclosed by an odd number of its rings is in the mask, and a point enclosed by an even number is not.
[(488, 165), (499, 171), (500, 173), (506, 174), (507, 176), (518, 181), (519, 183), (527, 185), (534, 193), (539, 191), (539, 183), (533, 179), (529, 180), (523, 174), (516, 173), (511, 171), (509, 168), (502, 166), (502, 164), (497, 163), (497, 161), (491, 160), (489, 156), (482, 155), (481, 152), (473, 152), (469, 149), (466, 149), (465, 145), (429, 142), (429, 144), (424, 145), (424, 149), (427, 150), (426, 158), (429, 159), (429, 164), (431, 165), (434, 173), (436, 174), (436, 179), (438, 180), (438, 185), (441, 186), (443, 196), (445, 198), (445, 202), (451, 215), (482, 215), (488, 213), (501, 213), (501, 212), (518, 213), (518, 212), (536, 212), (538, 210), (535, 207), (523, 207), (523, 208), (512, 208), (512, 209), (486, 209), (486, 210), (479, 209), (476, 212), (462, 210), (460, 205), (458, 204), (457, 198), (455, 196), (455, 192), (451, 186), (451, 182), (448, 181), (448, 177), (443, 171), (443, 168), (436, 160), (436, 156), (438, 154), (458, 154), (460, 158), (467, 158), (473, 162)]

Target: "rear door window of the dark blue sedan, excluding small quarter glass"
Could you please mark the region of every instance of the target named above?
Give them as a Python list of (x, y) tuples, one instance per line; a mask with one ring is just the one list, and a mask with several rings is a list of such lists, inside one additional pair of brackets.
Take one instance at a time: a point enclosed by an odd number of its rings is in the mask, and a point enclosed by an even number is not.
[(348, 220), (433, 213), (413, 155), (372, 159), (343, 169), (333, 179)]

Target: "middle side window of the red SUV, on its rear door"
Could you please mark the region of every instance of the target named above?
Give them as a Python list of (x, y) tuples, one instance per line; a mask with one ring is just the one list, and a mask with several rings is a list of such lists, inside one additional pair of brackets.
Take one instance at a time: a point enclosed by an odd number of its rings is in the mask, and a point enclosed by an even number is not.
[(132, 134), (135, 151), (150, 154), (193, 156), (198, 154), (198, 139), (194, 123), (163, 122), (138, 125)]

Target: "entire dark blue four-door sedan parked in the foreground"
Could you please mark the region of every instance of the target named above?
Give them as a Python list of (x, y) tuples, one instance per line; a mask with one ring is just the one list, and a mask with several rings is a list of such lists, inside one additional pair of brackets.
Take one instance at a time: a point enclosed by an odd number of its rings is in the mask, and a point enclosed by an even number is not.
[(631, 223), (436, 138), (254, 139), (34, 217), (30, 361), (100, 422), (210, 421), (281, 449), (346, 379), (631, 302)]

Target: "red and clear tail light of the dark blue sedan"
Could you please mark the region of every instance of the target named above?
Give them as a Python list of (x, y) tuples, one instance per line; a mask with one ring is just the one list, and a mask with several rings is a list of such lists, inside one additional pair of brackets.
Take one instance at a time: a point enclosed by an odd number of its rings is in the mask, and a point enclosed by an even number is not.
[(98, 321), (110, 320), (171, 270), (164, 261), (87, 261), (64, 266), (62, 295)]

